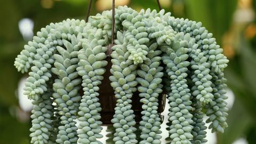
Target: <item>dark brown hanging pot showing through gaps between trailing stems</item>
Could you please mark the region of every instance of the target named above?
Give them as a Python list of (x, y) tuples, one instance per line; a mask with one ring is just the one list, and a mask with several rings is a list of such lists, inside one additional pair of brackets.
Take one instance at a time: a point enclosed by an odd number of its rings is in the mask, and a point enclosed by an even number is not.
[[(114, 90), (113, 87), (110, 85), (109, 76), (111, 76), (110, 68), (111, 68), (111, 61), (109, 58), (106, 59), (108, 61), (108, 65), (106, 68), (106, 73), (103, 75), (104, 79), (102, 81), (102, 84), (99, 86), (99, 102), (101, 104), (101, 121), (103, 124), (111, 124), (111, 119), (113, 118), (113, 115), (115, 114), (114, 108), (116, 107), (116, 98), (114, 96)], [(134, 110), (135, 114), (135, 121), (140, 122), (141, 121), (141, 111), (142, 111), (142, 103), (140, 102), (139, 92), (133, 93), (132, 97), (132, 109)], [(164, 111), (165, 107), (165, 100), (166, 100), (166, 94), (162, 93), (159, 94), (158, 101), (158, 113), (162, 113)]]

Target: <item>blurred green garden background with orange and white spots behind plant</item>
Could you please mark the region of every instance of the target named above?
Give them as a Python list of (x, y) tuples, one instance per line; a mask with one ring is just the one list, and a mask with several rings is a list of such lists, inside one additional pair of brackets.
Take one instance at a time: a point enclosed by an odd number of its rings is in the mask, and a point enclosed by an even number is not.
[[(160, 0), (174, 17), (202, 21), (230, 60), (229, 127), (208, 143), (256, 143), (256, 0)], [(89, 0), (9, 0), (0, 4), (0, 143), (29, 143), (29, 106), (20, 94), (24, 77), (13, 62), (33, 34), (50, 22), (85, 19)], [(158, 9), (155, 0), (116, 0), (135, 10)], [(93, 0), (91, 15), (111, 9)], [(22, 78), (23, 77), (23, 78)], [(23, 99), (19, 99), (23, 97)], [(23, 103), (23, 104), (22, 104)], [(215, 134), (214, 134), (215, 135)]]

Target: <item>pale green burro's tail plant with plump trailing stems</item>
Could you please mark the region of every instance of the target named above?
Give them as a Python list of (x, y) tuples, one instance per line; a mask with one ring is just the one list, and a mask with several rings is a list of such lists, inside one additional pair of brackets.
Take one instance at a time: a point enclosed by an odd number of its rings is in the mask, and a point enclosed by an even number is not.
[[(209, 129), (227, 127), (228, 60), (201, 22), (156, 10), (127, 6), (84, 20), (50, 23), (24, 46), (14, 66), (29, 72), (25, 94), (34, 100), (31, 143), (104, 143), (99, 90), (109, 78), (116, 98), (111, 122), (116, 144), (161, 143), (158, 96), (169, 100), (171, 143), (205, 143)], [(108, 45), (115, 35), (115, 45)], [(111, 59), (111, 60), (108, 60)], [(108, 62), (111, 69), (105, 69)], [(110, 71), (110, 77), (102, 75)], [(139, 95), (133, 93), (138, 91)], [(136, 135), (132, 97), (140, 97), (142, 120)]]

